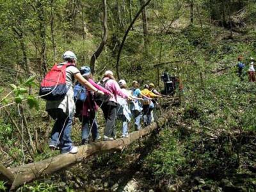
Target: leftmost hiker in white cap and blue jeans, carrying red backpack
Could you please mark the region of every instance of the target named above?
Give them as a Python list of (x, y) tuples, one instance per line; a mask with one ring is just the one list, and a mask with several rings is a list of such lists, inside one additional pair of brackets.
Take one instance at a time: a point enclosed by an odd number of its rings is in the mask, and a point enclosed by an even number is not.
[[(72, 118), (75, 112), (75, 102), (74, 102), (74, 91), (73, 91), (73, 83), (74, 79), (77, 79), (79, 83), (83, 84), (89, 90), (93, 92), (99, 92), (104, 94), (95, 88), (91, 83), (89, 83), (83, 76), (81, 76), (79, 70), (76, 68), (76, 55), (74, 52), (67, 51), (63, 54), (63, 63), (60, 63), (54, 66), (54, 70), (51, 70), (49, 74), (54, 74), (58, 72), (58, 68), (61, 69), (60, 75), (58, 77), (52, 75), (52, 77), (56, 77), (56, 79), (49, 77), (50, 80), (45, 79), (45, 82), (48, 84), (58, 82), (60, 80), (60, 76), (65, 74), (65, 84), (63, 87), (59, 88), (67, 88), (67, 93), (65, 93), (64, 97), (58, 100), (52, 98), (52, 100), (47, 100), (46, 102), (46, 111), (54, 120), (56, 120), (52, 133), (51, 133), (51, 142), (49, 143), (49, 147), (61, 148), (62, 154), (75, 154), (77, 153), (77, 147), (72, 146), (72, 140), (70, 138), (71, 129), (72, 129)], [(63, 68), (63, 70), (62, 70)], [(45, 76), (47, 77), (47, 75)], [(47, 84), (47, 83), (46, 83)], [(41, 84), (42, 86), (42, 84)], [(48, 89), (51, 89), (49, 87)], [(47, 90), (47, 88), (45, 89)], [(57, 86), (52, 90), (52, 92), (56, 92)], [(49, 93), (51, 95), (51, 93)]]

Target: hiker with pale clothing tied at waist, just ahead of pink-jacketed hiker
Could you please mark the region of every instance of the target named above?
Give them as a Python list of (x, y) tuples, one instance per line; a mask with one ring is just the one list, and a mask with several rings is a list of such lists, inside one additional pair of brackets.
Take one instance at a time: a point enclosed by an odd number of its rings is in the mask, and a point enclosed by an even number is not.
[[(126, 92), (127, 95), (131, 95), (131, 92), (127, 90), (127, 84), (124, 79), (118, 81), (120, 88), (122, 88), (123, 92)], [(131, 110), (129, 109), (127, 99), (122, 97), (117, 97), (118, 109), (117, 115), (120, 120), (122, 120), (122, 138), (126, 138), (128, 136), (128, 124), (131, 122)]]

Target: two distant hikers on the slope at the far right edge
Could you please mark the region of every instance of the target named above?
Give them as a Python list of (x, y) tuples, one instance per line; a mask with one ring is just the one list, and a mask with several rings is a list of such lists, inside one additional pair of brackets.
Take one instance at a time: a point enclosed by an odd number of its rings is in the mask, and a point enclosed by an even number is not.
[[(246, 74), (246, 65), (243, 63), (243, 56), (239, 56), (237, 58), (238, 63), (237, 63), (237, 74), (240, 77), (241, 81), (244, 81), (244, 76)], [(249, 68), (248, 68), (248, 81), (249, 82), (255, 82), (256, 78), (255, 78), (255, 68), (254, 68), (254, 62), (255, 59), (254, 58), (250, 58), (250, 64), (249, 64)]]

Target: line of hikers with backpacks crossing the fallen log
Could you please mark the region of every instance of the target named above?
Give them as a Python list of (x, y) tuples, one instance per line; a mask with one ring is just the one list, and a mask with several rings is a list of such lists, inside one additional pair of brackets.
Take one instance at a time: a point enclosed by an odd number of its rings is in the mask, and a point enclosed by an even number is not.
[[(76, 67), (74, 52), (63, 54), (63, 63), (54, 65), (46, 74), (40, 86), (40, 96), (47, 100), (46, 111), (55, 120), (49, 147), (60, 149), (62, 154), (75, 154), (77, 147), (70, 138), (72, 120), (77, 116), (82, 124), (82, 144), (101, 139), (96, 114), (102, 109), (105, 119), (104, 141), (115, 140), (116, 118), (122, 120), (122, 137), (128, 136), (128, 124), (134, 118), (134, 127), (141, 129), (154, 121), (153, 109), (156, 99), (163, 95), (154, 84), (145, 84), (140, 90), (138, 81), (128, 89), (124, 79), (116, 81), (111, 70), (106, 70), (100, 83), (93, 81), (90, 67)], [(75, 83), (76, 81), (76, 83)], [(75, 84), (75, 85), (74, 85)], [(73, 88), (74, 87), (74, 88)]]

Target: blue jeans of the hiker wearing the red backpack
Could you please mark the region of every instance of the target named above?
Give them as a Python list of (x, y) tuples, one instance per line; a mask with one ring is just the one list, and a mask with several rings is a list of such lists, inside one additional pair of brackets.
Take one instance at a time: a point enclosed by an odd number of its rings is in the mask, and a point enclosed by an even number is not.
[(61, 153), (69, 152), (72, 148), (70, 134), (73, 115), (67, 116), (61, 109), (51, 109), (48, 113), (52, 118), (56, 119), (49, 145), (60, 146)]

